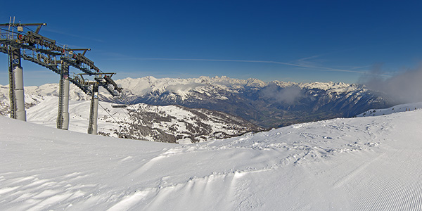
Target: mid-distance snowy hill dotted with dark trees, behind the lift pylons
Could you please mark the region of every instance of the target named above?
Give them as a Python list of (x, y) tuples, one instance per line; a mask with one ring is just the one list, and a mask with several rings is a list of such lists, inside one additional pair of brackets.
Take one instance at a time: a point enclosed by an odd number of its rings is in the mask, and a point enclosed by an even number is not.
[[(28, 122), (56, 127), (56, 96), (45, 96), (27, 110)], [(89, 101), (70, 101), (70, 126), (75, 132), (87, 132)], [(224, 139), (263, 129), (226, 113), (182, 106), (148, 106), (139, 103), (127, 108), (113, 108), (100, 102), (98, 134), (170, 143), (191, 143)]]

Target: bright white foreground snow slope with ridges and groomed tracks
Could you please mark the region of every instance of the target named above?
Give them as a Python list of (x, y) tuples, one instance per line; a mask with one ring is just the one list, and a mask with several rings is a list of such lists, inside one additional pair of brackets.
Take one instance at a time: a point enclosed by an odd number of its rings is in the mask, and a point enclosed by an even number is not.
[(422, 110), (191, 145), (0, 117), (0, 210), (420, 210)]

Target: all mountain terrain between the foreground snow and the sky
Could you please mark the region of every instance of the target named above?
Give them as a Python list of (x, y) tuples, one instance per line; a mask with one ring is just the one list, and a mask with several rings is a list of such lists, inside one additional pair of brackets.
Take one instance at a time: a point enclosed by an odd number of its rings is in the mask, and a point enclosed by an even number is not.
[[(98, 132), (181, 143), (223, 139), (264, 128), (352, 117), (395, 102), (359, 84), (262, 82), (259, 79), (143, 77), (116, 80), (124, 97), (100, 89)], [(58, 84), (25, 87), (27, 119), (56, 127)], [(87, 131), (89, 96), (70, 87), (70, 130)], [(0, 115), (8, 115), (0, 86)], [(126, 108), (113, 108), (120, 103)]]

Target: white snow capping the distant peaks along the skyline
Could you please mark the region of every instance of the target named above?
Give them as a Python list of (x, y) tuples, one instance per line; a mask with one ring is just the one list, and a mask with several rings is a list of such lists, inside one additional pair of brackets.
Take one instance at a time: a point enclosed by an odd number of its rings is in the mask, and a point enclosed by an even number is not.
[[(335, 94), (342, 94), (355, 91), (359, 88), (357, 84), (345, 84), (334, 82), (313, 82), (313, 83), (295, 83), (295, 82), (262, 82), (259, 79), (232, 79), (226, 76), (222, 77), (205, 77), (198, 78), (155, 78), (152, 76), (141, 78), (125, 78), (115, 80), (120, 87), (123, 88), (124, 93), (129, 99), (136, 99), (139, 96), (148, 96), (153, 93), (168, 92), (170, 96), (176, 98), (181, 97), (181, 100), (186, 100), (191, 96), (192, 92), (200, 94), (215, 94), (217, 99), (226, 100), (226, 96), (220, 96), (215, 93), (216, 90), (223, 90), (228, 93), (238, 93), (243, 89), (262, 89), (269, 84), (276, 84), (279, 87), (300, 87), (301, 89), (321, 89)], [(8, 86), (0, 85), (0, 103), (5, 105), (8, 103)], [(105, 89), (100, 89), (100, 100), (111, 101), (110, 94)], [(58, 84), (44, 84), (39, 87), (25, 87), (25, 103), (31, 103), (27, 99), (33, 96), (58, 96)], [(89, 96), (84, 94), (82, 90), (74, 84), (70, 84), (70, 100), (87, 101)], [(4, 102), (3, 102), (4, 101)]]

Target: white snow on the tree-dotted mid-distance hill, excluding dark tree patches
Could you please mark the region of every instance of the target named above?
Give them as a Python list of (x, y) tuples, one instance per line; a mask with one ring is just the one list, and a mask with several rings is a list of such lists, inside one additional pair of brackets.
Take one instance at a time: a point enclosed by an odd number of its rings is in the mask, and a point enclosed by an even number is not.
[[(39, 99), (39, 103), (36, 106), (32, 106), (27, 109), (27, 121), (56, 128), (57, 106), (58, 97), (44, 96), (42, 99)], [(89, 123), (89, 108), (90, 101), (70, 101), (70, 131), (82, 133), (87, 132)], [(129, 127), (129, 124), (135, 124), (134, 120), (131, 119), (131, 115), (133, 114), (129, 113), (129, 110), (134, 109), (138, 110), (138, 113), (141, 113), (142, 111), (151, 112), (158, 114), (158, 117), (167, 117), (168, 119), (151, 119), (150, 121), (152, 124), (149, 124), (148, 120), (146, 120), (148, 117), (144, 116), (143, 119), (139, 119), (139, 124), (142, 123), (143, 125), (152, 127), (153, 129), (161, 129), (162, 131), (167, 132), (167, 134), (172, 134), (174, 136), (186, 137), (193, 135), (198, 141), (205, 141), (202, 140), (204, 137), (206, 139), (215, 138), (217, 137), (217, 135), (215, 135), (217, 133), (238, 135), (250, 131), (245, 130), (245, 128), (242, 129), (240, 125), (222, 122), (222, 119), (219, 119), (217, 115), (212, 116), (202, 113), (206, 116), (206, 118), (204, 120), (199, 119), (198, 114), (189, 110), (184, 110), (184, 108), (179, 106), (151, 106), (139, 103), (127, 108), (113, 108), (112, 103), (99, 102), (98, 133), (117, 137), (117, 132), (120, 132), (120, 130), (122, 134), (129, 131), (131, 128)], [(136, 122), (138, 122), (138, 120), (136, 120)], [(198, 122), (200, 122), (201, 125), (198, 124)], [(208, 134), (192, 134), (188, 130), (188, 125), (191, 125), (191, 127), (209, 127), (210, 132)], [(173, 131), (171, 129), (173, 129)], [(153, 140), (153, 137), (148, 135), (135, 136), (135, 134), (132, 134), (132, 137), (149, 141), (165, 141)], [(193, 141), (192, 139), (189, 140)], [(186, 141), (188, 141), (188, 139), (181, 140), (183, 143), (186, 143)]]

